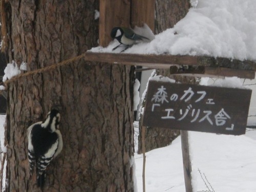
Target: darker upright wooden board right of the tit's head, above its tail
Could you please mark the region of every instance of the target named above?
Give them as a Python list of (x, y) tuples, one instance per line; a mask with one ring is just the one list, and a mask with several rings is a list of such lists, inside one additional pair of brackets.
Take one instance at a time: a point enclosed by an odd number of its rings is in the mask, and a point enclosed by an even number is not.
[(155, 31), (155, 0), (131, 0), (131, 27), (144, 23)]

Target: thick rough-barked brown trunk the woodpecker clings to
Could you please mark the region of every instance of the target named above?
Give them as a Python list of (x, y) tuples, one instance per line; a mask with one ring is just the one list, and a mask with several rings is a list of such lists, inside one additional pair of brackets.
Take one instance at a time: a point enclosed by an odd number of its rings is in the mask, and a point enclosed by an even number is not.
[[(3, 1), (4, 2), (4, 1)], [(9, 58), (28, 71), (97, 46), (97, 0), (9, 0)], [(74, 61), (8, 84), (6, 191), (41, 191), (30, 177), (27, 127), (57, 106), (63, 150), (42, 191), (133, 191), (131, 67)]]

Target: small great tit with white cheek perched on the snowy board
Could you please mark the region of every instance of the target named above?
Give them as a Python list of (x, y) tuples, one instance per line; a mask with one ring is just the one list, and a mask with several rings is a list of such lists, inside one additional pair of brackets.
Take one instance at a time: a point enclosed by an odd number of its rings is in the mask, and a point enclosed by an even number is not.
[[(126, 49), (134, 45), (136, 40), (143, 40), (143, 39), (150, 40), (147, 37), (136, 34), (132, 29), (125, 28), (125, 27), (113, 28), (110, 35), (113, 39), (114, 38), (117, 39), (120, 42), (120, 45), (126, 46), (126, 48), (123, 51), (125, 51)], [(120, 45), (116, 46), (114, 49), (112, 49), (112, 51), (114, 51)]]

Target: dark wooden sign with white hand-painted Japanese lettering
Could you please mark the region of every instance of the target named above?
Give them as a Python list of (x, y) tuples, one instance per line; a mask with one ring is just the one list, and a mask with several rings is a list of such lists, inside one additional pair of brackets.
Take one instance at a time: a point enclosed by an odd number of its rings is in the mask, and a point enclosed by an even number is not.
[(251, 90), (150, 81), (143, 126), (245, 134)]

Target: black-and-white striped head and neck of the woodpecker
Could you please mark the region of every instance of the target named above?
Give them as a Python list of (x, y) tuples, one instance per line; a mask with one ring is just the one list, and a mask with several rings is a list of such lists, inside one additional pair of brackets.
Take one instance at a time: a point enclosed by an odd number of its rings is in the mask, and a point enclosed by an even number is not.
[(42, 127), (49, 129), (50, 132), (55, 132), (59, 128), (60, 113), (58, 110), (51, 110), (46, 120), (41, 124)]

